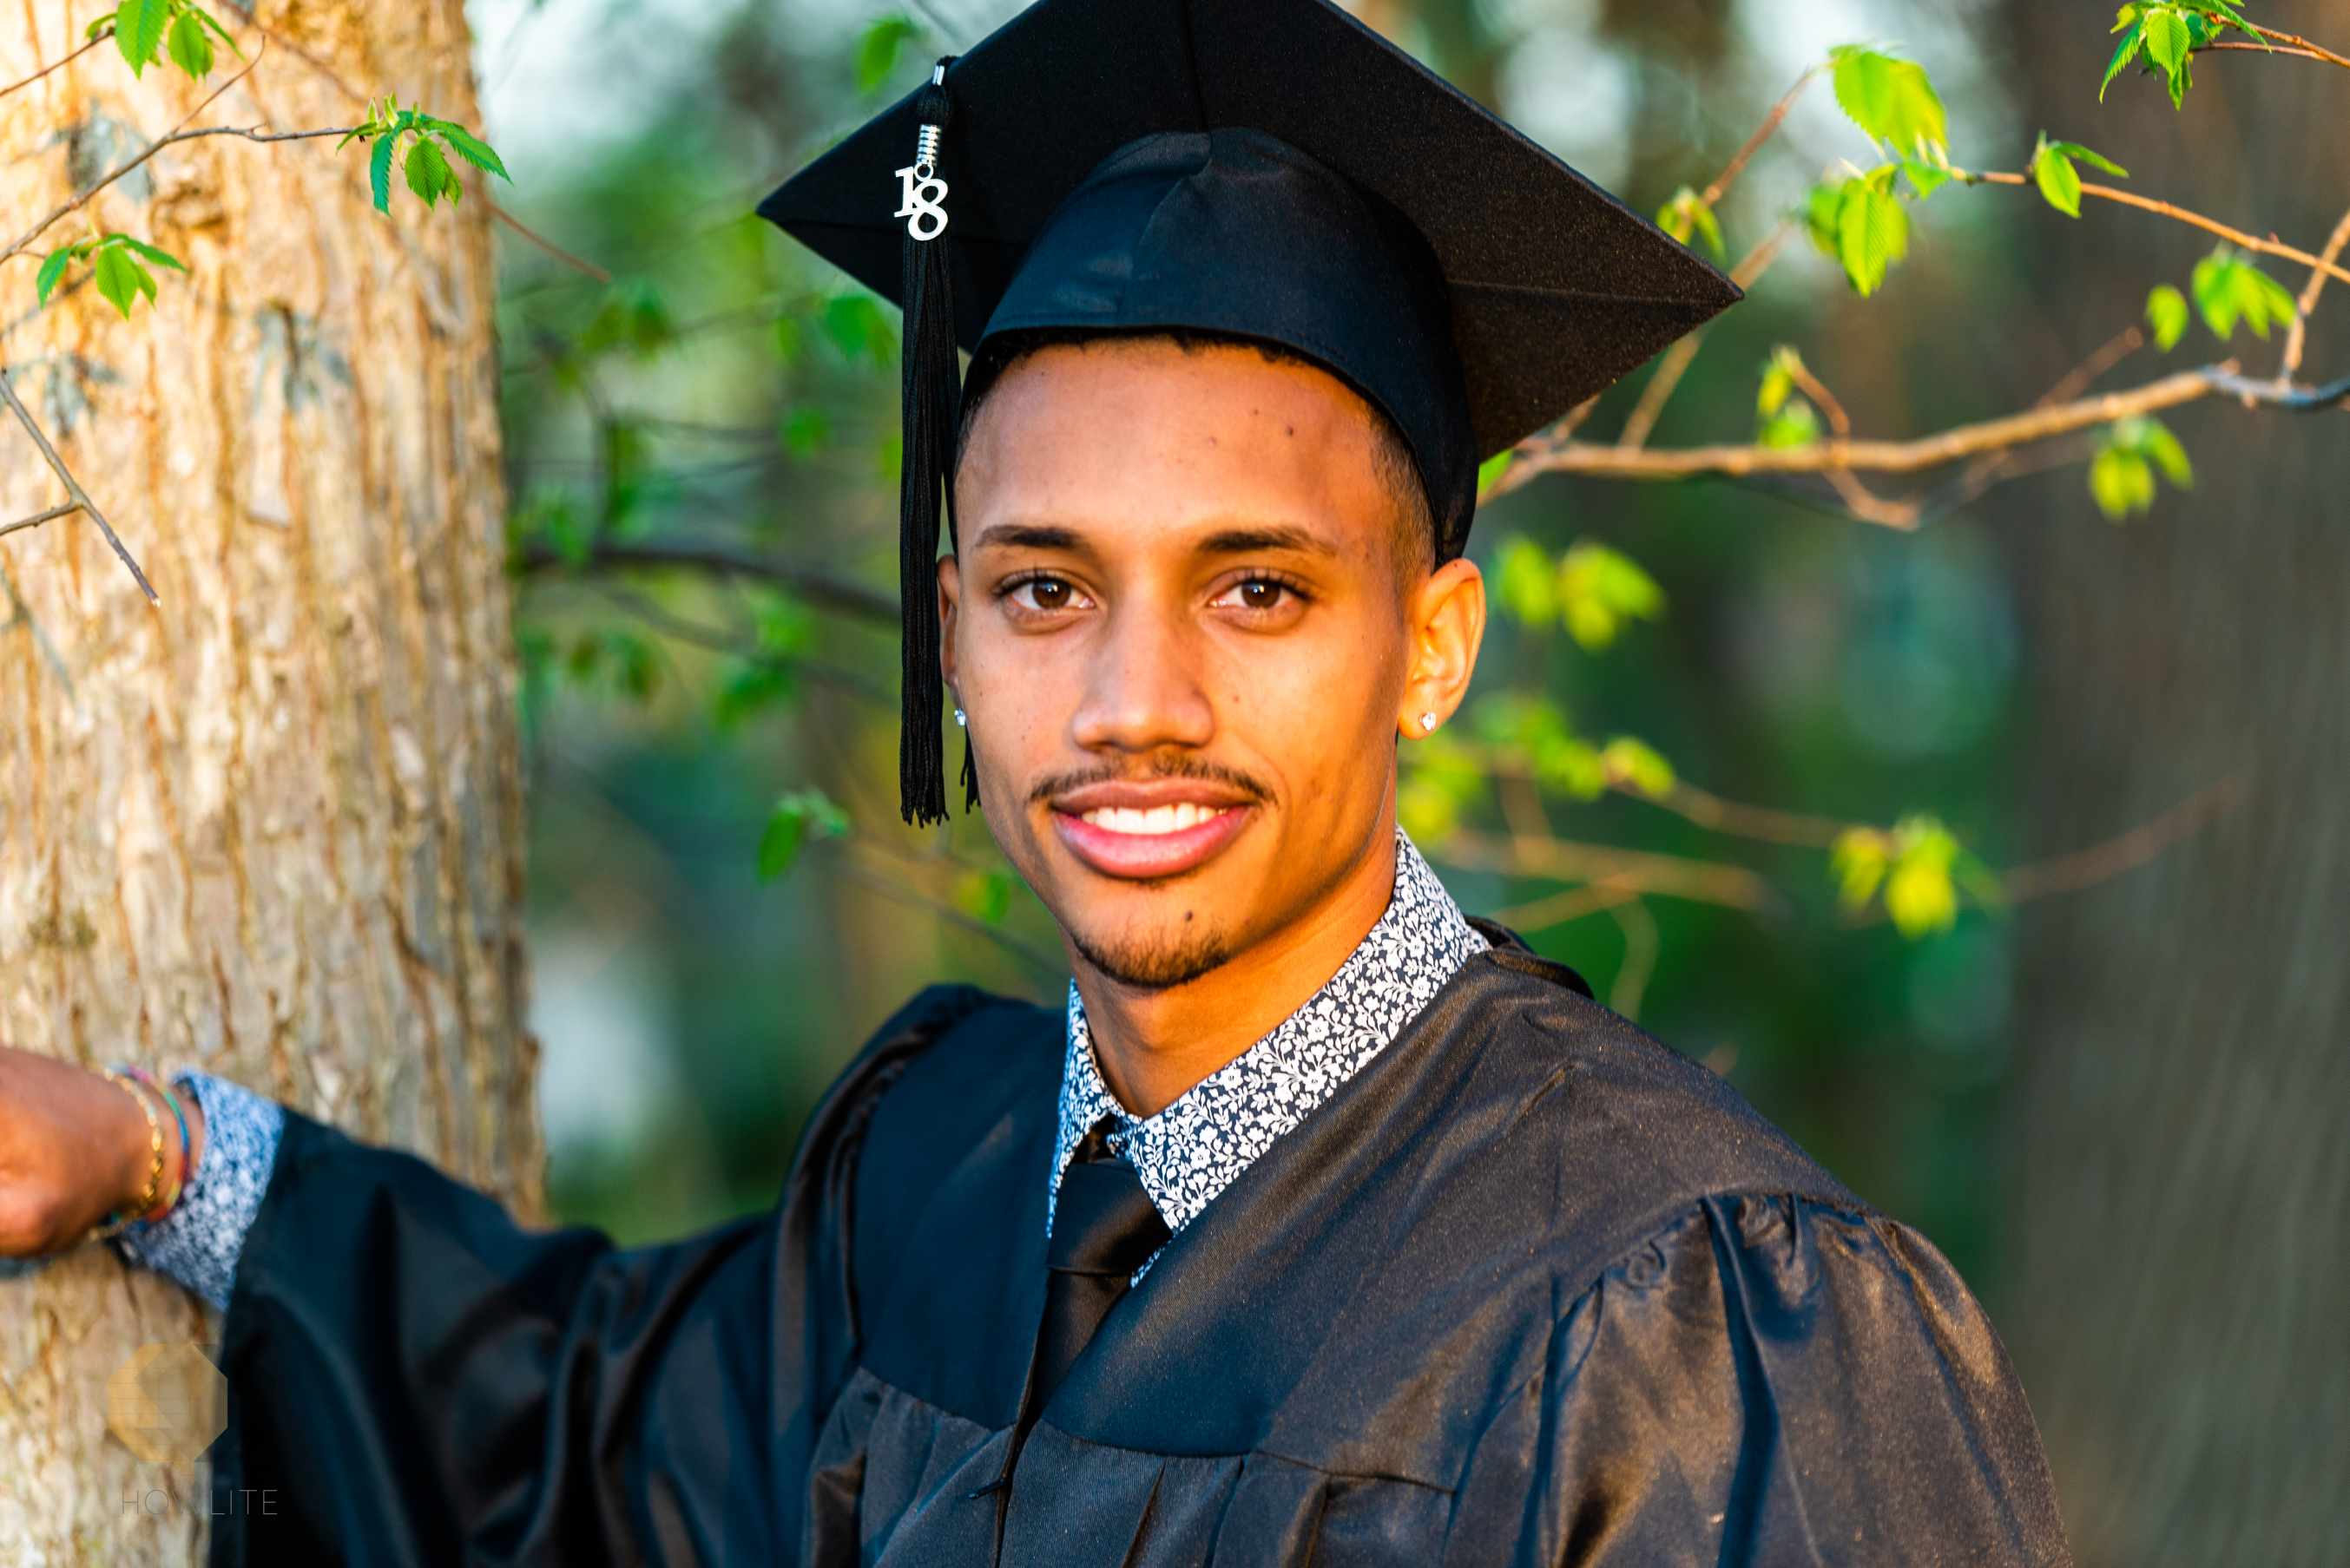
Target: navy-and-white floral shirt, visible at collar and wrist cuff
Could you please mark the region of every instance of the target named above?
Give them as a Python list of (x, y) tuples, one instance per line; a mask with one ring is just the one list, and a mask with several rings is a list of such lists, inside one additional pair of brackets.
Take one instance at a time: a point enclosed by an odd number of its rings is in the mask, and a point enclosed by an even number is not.
[[(1060, 1141), (1046, 1190), (1046, 1230), (1060, 1171), (1086, 1129), (1109, 1115), (1109, 1148), (1135, 1164), (1142, 1188), (1182, 1230), (1248, 1162), (1290, 1131), (1377, 1056), (1471, 955), (1488, 946), (1436, 880), (1410, 836), (1396, 829), (1396, 887), (1386, 913), (1321, 991), (1229, 1063), (1191, 1084), (1159, 1115), (1135, 1117), (1093, 1061), (1086, 1005), (1069, 981), (1067, 1056), (1060, 1084)], [(179, 1207), (157, 1223), (132, 1223), (113, 1246), (219, 1310), (261, 1195), (277, 1162), (284, 1110), (223, 1077), (181, 1068), (172, 1075), (204, 1108), (204, 1157)], [(1135, 1270), (1149, 1270), (1156, 1253)]]

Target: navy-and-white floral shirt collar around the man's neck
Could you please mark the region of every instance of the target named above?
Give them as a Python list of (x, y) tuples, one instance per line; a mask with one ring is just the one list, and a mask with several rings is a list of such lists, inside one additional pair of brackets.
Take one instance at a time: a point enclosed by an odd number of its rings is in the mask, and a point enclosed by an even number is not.
[(1053, 1228), (1053, 1202), (1060, 1197), (1060, 1171), (1069, 1164), (1069, 1153), (1104, 1115), (1116, 1120), (1109, 1148), (1133, 1162), (1168, 1230), (1182, 1230), (1274, 1138), (1297, 1127), (1401, 1035), (1452, 972), (1488, 946), (1398, 826), (1396, 887), (1386, 913), (1337, 974), (1262, 1040), (1152, 1117), (1130, 1115), (1102, 1082), (1086, 1005), (1072, 979), (1046, 1230)]

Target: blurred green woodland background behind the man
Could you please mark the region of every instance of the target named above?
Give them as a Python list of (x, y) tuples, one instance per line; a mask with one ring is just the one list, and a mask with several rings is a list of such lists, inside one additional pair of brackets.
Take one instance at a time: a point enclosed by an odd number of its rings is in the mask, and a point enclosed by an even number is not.
[[(750, 216), (1015, 7), (470, 9), (498, 197), (611, 272), (501, 230), (552, 1197), (653, 1239), (771, 1204), (912, 988), (1065, 986), (978, 819), (898, 822), (895, 310)], [(1356, 9), (1647, 214), (1835, 45), (1922, 66), (1967, 169), (2023, 169), (2044, 131), (2308, 249), (2350, 202), (2350, 75), (2240, 49), (2197, 56), (2183, 108), (2136, 73), (2099, 103), (2106, 7)], [(2251, 14), (2350, 49), (2338, 5)], [(1650, 446), (1807, 439), (1784, 420), (1826, 418), (1817, 397), (1758, 413), (1779, 345), (1887, 439), (2084, 361), (2099, 387), (2277, 366), (2282, 331), (2131, 343), (2211, 235), (2028, 185), (1906, 204), (1908, 254), (1861, 298), (1802, 223), (1845, 160), (1880, 155), (1821, 75), (1713, 209), (1725, 265), (1795, 216)], [(2350, 296), (2315, 312), (2308, 380), (2343, 373), (2343, 319)], [(1647, 376), (1579, 434), (1645, 420)], [(1950, 502), (1918, 528), (1819, 481), (1502, 474), (1471, 556), (1504, 613), (1459, 739), (1412, 753), (1405, 822), (1466, 908), (1958, 1263), (2084, 1563), (2350, 1561), (2324, 1458), (2350, 1415), (2350, 458), (2338, 411), (2204, 399), (2164, 425), (2193, 486), (2157, 462), (2120, 526), (2092, 493), (2110, 432), (1979, 495), (1875, 481)]]

